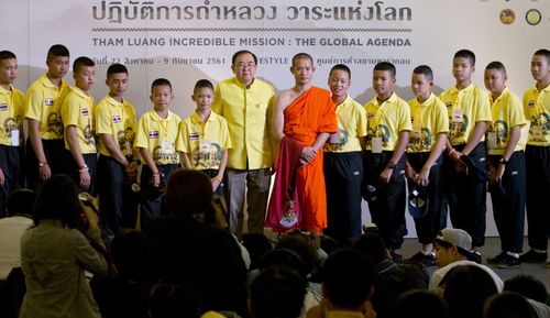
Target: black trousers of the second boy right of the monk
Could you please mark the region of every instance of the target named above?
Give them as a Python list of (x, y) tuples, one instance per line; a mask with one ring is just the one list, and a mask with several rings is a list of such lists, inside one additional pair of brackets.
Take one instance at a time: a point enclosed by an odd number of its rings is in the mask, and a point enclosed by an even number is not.
[[(407, 234), (405, 224), (405, 158), (396, 163), (389, 183), (382, 184), (380, 174), (386, 167), (393, 152), (372, 153), (363, 156), (363, 194), (367, 185), (375, 185), (376, 199), (370, 199), (369, 210), (374, 223), (378, 227), (381, 237), (388, 249), (400, 249), (403, 238)], [(366, 199), (366, 198), (365, 198)]]

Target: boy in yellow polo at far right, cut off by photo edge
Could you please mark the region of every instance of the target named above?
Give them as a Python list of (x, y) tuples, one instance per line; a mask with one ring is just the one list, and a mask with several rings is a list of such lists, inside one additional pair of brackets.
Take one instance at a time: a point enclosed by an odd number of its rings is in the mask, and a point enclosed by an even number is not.
[[(531, 59), (534, 87), (524, 94), (524, 113), (531, 122), (525, 149), (527, 233), (529, 246), (521, 262), (541, 263), (548, 257), (550, 235), (550, 51), (539, 50)], [(550, 263), (547, 263), (547, 266)]]

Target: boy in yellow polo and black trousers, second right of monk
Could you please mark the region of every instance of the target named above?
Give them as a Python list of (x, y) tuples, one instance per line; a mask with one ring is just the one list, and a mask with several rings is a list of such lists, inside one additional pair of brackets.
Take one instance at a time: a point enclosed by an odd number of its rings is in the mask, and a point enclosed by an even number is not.
[(405, 224), (405, 149), (413, 129), (410, 108), (394, 91), (396, 69), (392, 63), (374, 66), (376, 97), (365, 105), (369, 135), (363, 157), (363, 197), (380, 234), (396, 263), (403, 262), (400, 248)]

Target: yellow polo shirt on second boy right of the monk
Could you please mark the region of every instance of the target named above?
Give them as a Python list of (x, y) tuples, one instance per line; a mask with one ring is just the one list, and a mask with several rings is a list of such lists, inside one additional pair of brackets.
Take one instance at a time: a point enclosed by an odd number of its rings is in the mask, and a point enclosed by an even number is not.
[(374, 97), (365, 105), (365, 109), (369, 120), (366, 150), (372, 151), (372, 139), (380, 136), (382, 138), (382, 150), (394, 151), (399, 132), (413, 130), (410, 108), (395, 92), (382, 105)]

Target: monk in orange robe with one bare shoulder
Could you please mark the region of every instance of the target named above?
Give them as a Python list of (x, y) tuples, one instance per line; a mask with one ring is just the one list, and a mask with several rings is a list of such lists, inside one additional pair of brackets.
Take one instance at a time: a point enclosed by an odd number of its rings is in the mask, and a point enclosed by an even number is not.
[[(293, 58), (290, 72), (295, 77), (295, 86), (277, 96), (273, 107), (272, 130), (277, 142), (286, 136), (302, 145), (295, 171), (288, 169), (288, 158), (282, 150), (277, 166), (279, 173), (295, 173), (293, 190), (301, 216), (298, 222), (280, 221), (288, 208), (289, 196), (287, 188), (278, 187), (275, 177), (275, 187), (267, 210), (266, 226), (275, 231), (285, 231), (300, 228), (307, 231), (321, 233), (327, 228), (327, 193), (322, 167), (322, 146), (331, 133), (338, 129), (336, 108), (326, 89), (311, 86), (315, 73), (314, 59), (310, 55), (299, 53)], [(284, 143), (286, 144), (286, 143)], [(296, 149), (296, 147), (294, 147)], [(278, 222), (276, 220), (279, 220)]]

